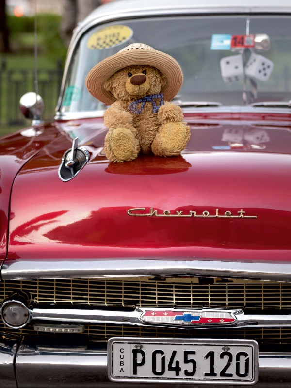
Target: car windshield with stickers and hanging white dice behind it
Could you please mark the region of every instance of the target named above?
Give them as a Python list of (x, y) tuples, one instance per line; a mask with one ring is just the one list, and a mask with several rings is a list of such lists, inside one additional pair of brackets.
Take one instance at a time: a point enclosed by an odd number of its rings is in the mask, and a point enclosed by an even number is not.
[(98, 62), (136, 42), (170, 54), (181, 65), (178, 104), (289, 101), (290, 26), (290, 16), (159, 17), (99, 25), (75, 50), (61, 111), (104, 109), (87, 91), (85, 78)]

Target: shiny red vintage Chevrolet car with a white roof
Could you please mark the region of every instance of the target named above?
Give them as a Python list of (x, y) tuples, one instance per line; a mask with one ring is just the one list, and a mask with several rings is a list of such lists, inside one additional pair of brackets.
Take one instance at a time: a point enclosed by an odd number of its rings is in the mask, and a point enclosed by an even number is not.
[[(0, 386), (291, 381), (291, 5), (264, 4), (118, 1), (76, 28), (54, 121), (0, 139)], [(181, 65), (191, 138), (113, 163), (85, 77), (135, 42)]]

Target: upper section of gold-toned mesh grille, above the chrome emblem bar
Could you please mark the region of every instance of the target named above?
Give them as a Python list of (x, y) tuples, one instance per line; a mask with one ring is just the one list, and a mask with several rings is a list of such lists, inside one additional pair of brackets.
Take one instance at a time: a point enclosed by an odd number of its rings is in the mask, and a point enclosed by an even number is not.
[(234, 281), (198, 284), (178, 281), (49, 279), (0, 282), (0, 300), (16, 291), (31, 303), (131, 307), (222, 307), (290, 309), (291, 283)]

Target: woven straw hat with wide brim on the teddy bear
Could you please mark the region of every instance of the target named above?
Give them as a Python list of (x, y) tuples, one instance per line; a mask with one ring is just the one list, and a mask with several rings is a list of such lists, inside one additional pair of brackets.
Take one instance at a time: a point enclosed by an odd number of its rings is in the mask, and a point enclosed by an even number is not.
[(103, 84), (116, 71), (127, 66), (147, 65), (156, 67), (167, 79), (161, 93), (165, 101), (171, 101), (183, 83), (183, 73), (178, 62), (168, 54), (157, 51), (143, 43), (133, 43), (99, 62), (86, 77), (88, 91), (106, 105), (112, 104), (116, 98), (103, 88)]

